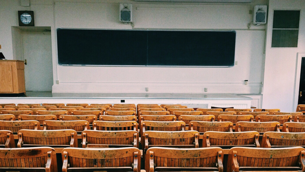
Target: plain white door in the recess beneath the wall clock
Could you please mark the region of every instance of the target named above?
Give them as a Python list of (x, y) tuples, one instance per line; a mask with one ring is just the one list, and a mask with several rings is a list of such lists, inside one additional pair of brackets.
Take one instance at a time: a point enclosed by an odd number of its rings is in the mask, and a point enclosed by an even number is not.
[(43, 32), (23, 31), (23, 58), (26, 91), (52, 91), (51, 35)]

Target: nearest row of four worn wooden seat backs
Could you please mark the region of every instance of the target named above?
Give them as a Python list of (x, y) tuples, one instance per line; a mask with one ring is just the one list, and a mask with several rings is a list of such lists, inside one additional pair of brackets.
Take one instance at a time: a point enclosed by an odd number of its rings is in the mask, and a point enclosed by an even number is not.
[[(145, 171), (218, 171), (224, 170), (224, 150), (211, 148), (149, 148)], [(62, 171), (141, 172), (138, 148), (64, 148)], [(304, 171), (305, 149), (234, 147), (228, 152), (228, 172)], [(51, 147), (0, 149), (2, 167), (8, 171), (57, 172), (55, 150)]]

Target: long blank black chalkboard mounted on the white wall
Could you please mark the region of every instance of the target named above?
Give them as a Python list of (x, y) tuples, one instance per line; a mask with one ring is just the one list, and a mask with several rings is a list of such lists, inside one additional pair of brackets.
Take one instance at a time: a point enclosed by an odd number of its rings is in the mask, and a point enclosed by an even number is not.
[(235, 31), (57, 29), (60, 65), (233, 66)]

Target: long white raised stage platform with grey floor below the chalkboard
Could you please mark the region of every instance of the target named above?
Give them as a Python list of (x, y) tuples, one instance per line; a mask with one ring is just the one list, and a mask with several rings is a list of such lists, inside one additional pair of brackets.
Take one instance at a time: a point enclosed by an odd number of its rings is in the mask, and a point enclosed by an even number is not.
[(134, 104), (182, 104), (190, 108), (234, 107), (250, 108), (250, 97), (235, 94), (204, 93), (51, 93), (26, 92), (22, 97), (1, 97), (5, 103), (134, 103)]

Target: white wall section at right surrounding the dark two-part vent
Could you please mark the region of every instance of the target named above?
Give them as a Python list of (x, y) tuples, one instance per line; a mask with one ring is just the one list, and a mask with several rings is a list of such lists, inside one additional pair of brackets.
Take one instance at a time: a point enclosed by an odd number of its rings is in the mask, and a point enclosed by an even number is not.
[[(298, 48), (271, 48), (274, 9), (301, 10)], [(268, 16), (263, 108), (280, 108), (283, 112), (294, 112), (296, 58), (297, 53), (305, 52), (305, 0), (270, 0)], [(299, 86), (296, 87), (298, 90)]]

